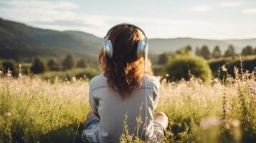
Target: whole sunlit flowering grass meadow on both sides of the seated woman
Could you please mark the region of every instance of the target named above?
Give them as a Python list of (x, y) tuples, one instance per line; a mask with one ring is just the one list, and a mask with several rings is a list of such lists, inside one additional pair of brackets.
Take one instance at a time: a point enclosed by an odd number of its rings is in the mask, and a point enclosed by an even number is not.
[[(255, 71), (227, 69), (208, 83), (161, 81), (156, 112), (166, 112), (163, 142), (254, 142), (256, 140)], [(0, 73), (1, 74), (1, 73)], [(161, 77), (159, 77), (161, 78)], [(90, 110), (89, 79), (0, 78), (0, 142), (81, 142)], [(133, 142), (123, 138), (122, 142)]]

